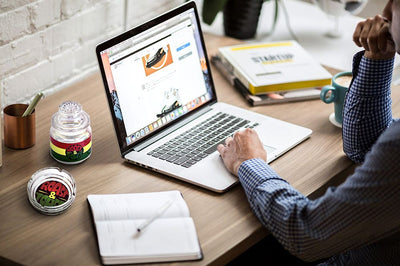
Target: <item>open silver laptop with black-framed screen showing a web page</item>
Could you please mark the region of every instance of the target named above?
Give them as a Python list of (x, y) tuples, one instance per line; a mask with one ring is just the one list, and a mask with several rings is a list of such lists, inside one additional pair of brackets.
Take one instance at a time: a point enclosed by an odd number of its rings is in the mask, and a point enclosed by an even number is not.
[(203, 188), (238, 182), (217, 151), (254, 128), (268, 162), (312, 131), (217, 100), (194, 2), (187, 2), (96, 47), (122, 157)]

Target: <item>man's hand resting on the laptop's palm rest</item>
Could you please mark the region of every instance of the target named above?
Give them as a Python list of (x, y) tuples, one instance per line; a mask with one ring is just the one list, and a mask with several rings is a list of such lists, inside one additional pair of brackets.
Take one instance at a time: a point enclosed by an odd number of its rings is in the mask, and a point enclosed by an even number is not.
[(227, 138), (225, 146), (218, 145), (218, 152), (226, 168), (234, 175), (238, 174), (239, 166), (246, 160), (259, 158), (267, 161), (267, 153), (257, 132), (249, 128), (236, 132), (233, 138)]

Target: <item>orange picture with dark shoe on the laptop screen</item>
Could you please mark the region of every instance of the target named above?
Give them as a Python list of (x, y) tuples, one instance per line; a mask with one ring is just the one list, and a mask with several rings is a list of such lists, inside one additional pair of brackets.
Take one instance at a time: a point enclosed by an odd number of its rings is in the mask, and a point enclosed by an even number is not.
[(146, 76), (170, 65), (173, 60), (169, 44), (167, 46), (160, 47), (153, 54), (143, 56), (142, 62)]

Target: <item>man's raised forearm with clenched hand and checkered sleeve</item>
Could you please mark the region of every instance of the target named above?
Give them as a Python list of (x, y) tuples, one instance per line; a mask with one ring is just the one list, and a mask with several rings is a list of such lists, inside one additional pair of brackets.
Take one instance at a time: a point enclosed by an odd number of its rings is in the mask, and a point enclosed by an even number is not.
[(365, 52), (356, 54), (353, 61), (353, 81), (343, 110), (343, 149), (360, 163), (392, 122), (390, 84), (395, 45), (388, 20), (379, 15), (360, 22), (353, 41)]

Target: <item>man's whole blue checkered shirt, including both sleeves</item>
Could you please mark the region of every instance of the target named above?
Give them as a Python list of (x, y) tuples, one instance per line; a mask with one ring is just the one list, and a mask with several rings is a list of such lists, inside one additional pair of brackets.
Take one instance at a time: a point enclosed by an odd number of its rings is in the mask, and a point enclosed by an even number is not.
[[(387, 103), (393, 62), (368, 62), (362, 55), (359, 59), (345, 114), (352, 118), (345, 118), (344, 124), (349, 154), (363, 161), (353, 175), (315, 200), (302, 195), (261, 159), (243, 162), (238, 176), (257, 218), (299, 258), (323, 259), (323, 265), (398, 265), (400, 123), (392, 121)], [(368, 70), (368, 64), (380, 76)], [(369, 83), (381, 87), (371, 85), (370, 91)], [(364, 101), (364, 107), (355, 104)], [(361, 121), (366, 118), (369, 121)], [(358, 122), (350, 123), (352, 119)]]

